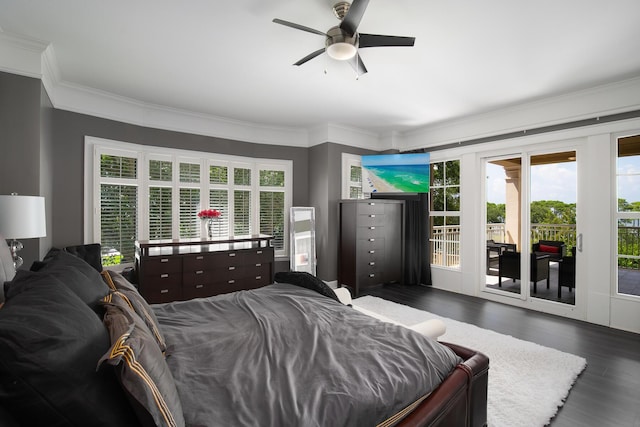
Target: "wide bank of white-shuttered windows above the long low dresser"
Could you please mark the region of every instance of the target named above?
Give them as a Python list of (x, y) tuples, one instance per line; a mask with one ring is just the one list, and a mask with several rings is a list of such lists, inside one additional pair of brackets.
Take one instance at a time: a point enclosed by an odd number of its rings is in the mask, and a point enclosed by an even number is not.
[(136, 240), (199, 238), (217, 209), (219, 236), (270, 234), (288, 256), (292, 162), (172, 150), (86, 137), (85, 235), (103, 265), (132, 263)]

